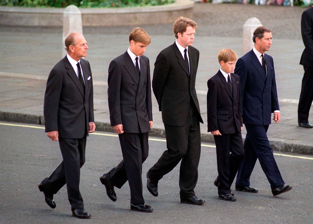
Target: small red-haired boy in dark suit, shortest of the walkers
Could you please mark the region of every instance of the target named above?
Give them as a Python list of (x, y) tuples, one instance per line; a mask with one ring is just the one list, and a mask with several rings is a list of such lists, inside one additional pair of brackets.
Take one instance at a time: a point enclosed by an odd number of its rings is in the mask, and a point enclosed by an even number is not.
[(233, 74), (237, 54), (231, 49), (218, 53), (221, 68), (208, 80), (208, 132), (214, 135), (216, 145), (218, 197), (236, 201), (230, 189), (244, 158), (241, 137), (242, 116), (239, 76)]

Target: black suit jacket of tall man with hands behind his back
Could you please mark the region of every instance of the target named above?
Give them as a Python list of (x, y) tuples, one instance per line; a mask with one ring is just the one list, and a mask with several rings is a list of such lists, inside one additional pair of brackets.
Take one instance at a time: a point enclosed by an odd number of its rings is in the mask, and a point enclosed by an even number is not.
[(199, 122), (203, 123), (195, 89), (199, 63), (199, 51), (188, 47), (190, 76), (176, 43), (163, 49), (154, 64), (152, 89), (162, 111), (164, 124), (183, 126), (186, 123), (190, 100), (198, 110)]

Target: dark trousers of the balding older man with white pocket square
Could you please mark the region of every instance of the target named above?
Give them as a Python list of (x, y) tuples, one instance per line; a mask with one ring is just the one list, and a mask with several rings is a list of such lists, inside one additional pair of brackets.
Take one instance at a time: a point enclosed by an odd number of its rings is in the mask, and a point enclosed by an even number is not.
[(72, 211), (83, 208), (84, 202), (79, 191), (80, 168), (85, 163), (85, 148), (87, 135), (81, 139), (59, 138), (63, 161), (49, 178), (41, 183), (52, 194), (56, 194), (65, 184)]

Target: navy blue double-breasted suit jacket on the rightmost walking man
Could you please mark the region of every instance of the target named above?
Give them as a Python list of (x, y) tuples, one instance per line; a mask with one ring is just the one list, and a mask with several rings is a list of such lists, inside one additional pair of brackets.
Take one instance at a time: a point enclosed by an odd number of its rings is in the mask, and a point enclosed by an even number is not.
[(267, 76), (253, 50), (238, 59), (234, 73), (241, 83), (244, 124), (269, 125), (271, 113), (279, 110), (273, 58), (264, 54)]

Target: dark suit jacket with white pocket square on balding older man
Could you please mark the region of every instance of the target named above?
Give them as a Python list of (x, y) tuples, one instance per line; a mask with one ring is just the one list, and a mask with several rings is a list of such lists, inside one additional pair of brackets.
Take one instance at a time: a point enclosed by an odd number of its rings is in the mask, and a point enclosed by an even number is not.
[[(94, 122), (93, 86), (90, 64), (80, 59), (85, 94), (65, 56), (51, 70), (44, 95), (45, 132), (59, 131), (60, 138), (82, 138)], [(85, 95), (85, 96), (84, 96)]]

